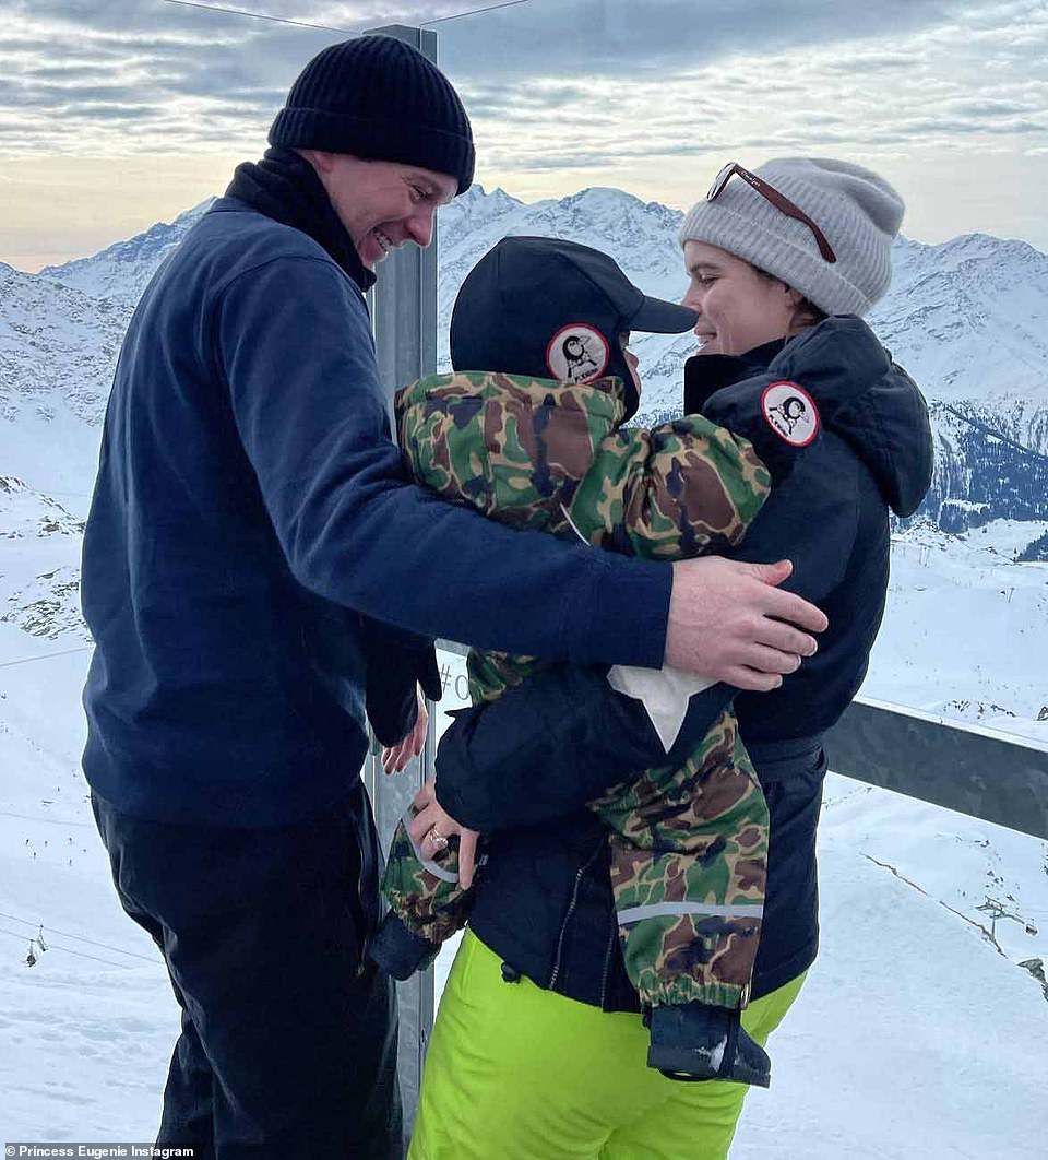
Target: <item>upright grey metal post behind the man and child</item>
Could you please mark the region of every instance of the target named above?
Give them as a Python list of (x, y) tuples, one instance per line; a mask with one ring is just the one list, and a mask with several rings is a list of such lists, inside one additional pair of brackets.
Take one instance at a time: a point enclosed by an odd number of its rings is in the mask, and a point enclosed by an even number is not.
[[(370, 32), (395, 36), (419, 49), (430, 60), (437, 59), (437, 34), (392, 24)], [(405, 246), (378, 267), (378, 281), (370, 296), (372, 328), (379, 377), (386, 389), (391, 418), (393, 393), (437, 367), (437, 242), (428, 249)], [(424, 581), (423, 581), (424, 582)], [(386, 777), (377, 754), (365, 770), (365, 783), (374, 806), (379, 840), (388, 849), (396, 822), (415, 792), (432, 773), (436, 754), (436, 708), (430, 704), (429, 734), (419, 761), (402, 773)], [(400, 1052), (398, 1072), (403, 1100), (405, 1131), (410, 1132), (422, 1081), (422, 1063), (434, 1023), (432, 969), (398, 984), (400, 1008)]]

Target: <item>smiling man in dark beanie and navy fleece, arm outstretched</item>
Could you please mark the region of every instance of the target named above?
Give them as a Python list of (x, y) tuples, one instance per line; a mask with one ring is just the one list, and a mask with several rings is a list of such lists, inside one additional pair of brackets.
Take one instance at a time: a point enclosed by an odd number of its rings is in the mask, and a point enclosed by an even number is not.
[(364, 37), (306, 66), (269, 140), (124, 341), (85, 536), (83, 766), (182, 1008), (160, 1141), (381, 1160), (401, 1147), (395, 1017), (363, 965), (357, 775), (365, 708), (417, 749), (423, 637), (769, 689), (815, 647), (783, 622), (825, 619), (772, 586), (785, 565), (617, 559), (408, 486), (363, 292), (468, 188), (466, 114), (424, 57)]

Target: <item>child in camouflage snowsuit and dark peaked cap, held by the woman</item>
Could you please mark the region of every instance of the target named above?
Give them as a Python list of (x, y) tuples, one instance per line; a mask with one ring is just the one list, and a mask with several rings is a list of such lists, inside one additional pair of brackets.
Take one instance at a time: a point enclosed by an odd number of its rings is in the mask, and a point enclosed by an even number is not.
[[(738, 543), (772, 478), (784, 479), (817, 437), (818, 415), (789, 384), (808, 416), (795, 435), (767, 414), (737, 434), (699, 415), (624, 429), (640, 390), (629, 332), (683, 332), (696, 320), (646, 298), (597, 251), (501, 241), (459, 292), (456, 372), (396, 397), (398, 436), (415, 478), (511, 527), (577, 535), (611, 551), (679, 559)], [(497, 370), (473, 369), (483, 367)], [(534, 668), (526, 658), (473, 651), (474, 703)], [(610, 679), (632, 691), (636, 675)], [(660, 732), (667, 752), (675, 733)], [(674, 1078), (766, 1087), (767, 1057), (740, 1012), (760, 931), (767, 810), (730, 709), (683, 764), (647, 770), (591, 807), (611, 831), (623, 954), (650, 1013), (649, 1065)], [(453, 848), (423, 858), (399, 826), (384, 880), (393, 913), (371, 948), (395, 977), (464, 925), (470, 896), (454, 871)]]

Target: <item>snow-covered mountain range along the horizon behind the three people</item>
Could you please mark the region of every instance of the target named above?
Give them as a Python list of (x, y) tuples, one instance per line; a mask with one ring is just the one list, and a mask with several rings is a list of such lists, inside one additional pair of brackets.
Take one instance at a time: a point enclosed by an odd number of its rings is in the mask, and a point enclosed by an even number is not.
[[(21, 426), (34, 408), (41, 419), (72, 411), (93, 428), (82, 433), (93, 462), (94, 428), (130, 306), (209, 204), (38, 275), (0, 267), (5, 418), (19, 413)], [(441, 216), (441, 364), (458, 288), (500, 238), (544, 234), (606, 249), (647, 292), (678, 298), (681, 217), (618, 189), (529, 204), (474, 186)], [(932, 404), (937, 471), (923, 512), (951, 531), (992, 519), (1048, 517), (1048, 256), (1021, 241), (969, 234), (939, 246), (900, 239), (894, 264), (893, 289), (871, 322)], [(634, 349), (646, 385), (641, 416), (676, 413), (692, 338), (643, 335)], [(0, 425), (0, 470), (26, 478), (17, 457), (9, 458), (9, 434)]]

